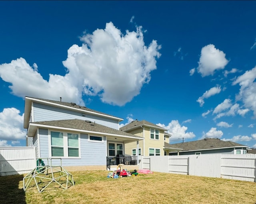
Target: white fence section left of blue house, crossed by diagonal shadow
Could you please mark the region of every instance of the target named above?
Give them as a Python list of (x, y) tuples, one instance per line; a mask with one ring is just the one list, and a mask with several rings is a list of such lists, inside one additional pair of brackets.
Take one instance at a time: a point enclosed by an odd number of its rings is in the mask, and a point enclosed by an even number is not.
[(0, 147), (0, 176), (29, 173), (35, 167), (35, 147)]

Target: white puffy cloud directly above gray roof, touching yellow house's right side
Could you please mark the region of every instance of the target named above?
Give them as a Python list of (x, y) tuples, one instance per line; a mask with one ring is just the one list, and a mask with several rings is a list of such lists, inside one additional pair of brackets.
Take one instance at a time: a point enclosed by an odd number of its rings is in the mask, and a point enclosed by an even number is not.
[(178, 120), (172, 120), (167, 126), (160, 123), (156, 125), (167, 129), (167, 132), (172, 135), (172, 137), (170, 137), (170, 141), (178, 141), (182, 138), (191, 139), (196, 137), (193, 132), (186, 132), (188, 128), (186, 126), (180, 126)]

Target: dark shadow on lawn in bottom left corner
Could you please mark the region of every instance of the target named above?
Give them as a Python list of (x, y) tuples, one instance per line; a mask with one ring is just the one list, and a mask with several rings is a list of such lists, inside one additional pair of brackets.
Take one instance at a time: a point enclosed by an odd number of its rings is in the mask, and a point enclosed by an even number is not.
[(0, 177), (0, 204), (26, 204), (22, 183), (23, 175)]

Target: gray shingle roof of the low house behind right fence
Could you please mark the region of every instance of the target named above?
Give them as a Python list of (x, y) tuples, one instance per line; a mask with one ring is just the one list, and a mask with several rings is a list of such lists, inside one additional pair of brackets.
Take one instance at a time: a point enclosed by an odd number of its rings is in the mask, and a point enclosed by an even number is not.
[(168, 144), (164, 145), (167, 148), (182, 149), (182, 151), (194, 151), (200, 149), (218, 149), (225, 147), (247, 147), (232, 141), (223, 141), (216, 138), (205, 138), (197, 141), (190, 141), (184, 143)]

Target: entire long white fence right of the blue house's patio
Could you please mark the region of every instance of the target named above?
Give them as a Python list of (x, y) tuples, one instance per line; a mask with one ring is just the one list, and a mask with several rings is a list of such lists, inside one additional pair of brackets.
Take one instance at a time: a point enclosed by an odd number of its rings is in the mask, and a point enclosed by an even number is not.
[(256, 154), (142, 156), (141, 161), (150, 171), (256, 182)]

